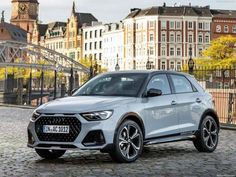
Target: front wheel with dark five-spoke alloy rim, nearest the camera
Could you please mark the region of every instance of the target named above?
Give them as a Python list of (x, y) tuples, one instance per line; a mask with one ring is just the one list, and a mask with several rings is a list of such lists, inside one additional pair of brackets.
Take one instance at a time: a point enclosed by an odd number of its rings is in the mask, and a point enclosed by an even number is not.
[(143, 133), (139, 125), (131, 120), (124, 121), (114, 137), (114, 149), (110, 156), (117, 162), (134, 162), (143, 150)]

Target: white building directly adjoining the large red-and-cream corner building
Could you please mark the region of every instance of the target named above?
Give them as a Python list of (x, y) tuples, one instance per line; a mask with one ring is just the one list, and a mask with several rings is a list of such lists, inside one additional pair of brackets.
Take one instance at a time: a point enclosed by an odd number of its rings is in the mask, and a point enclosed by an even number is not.
[(122, 23), (105, 25), (103, 31), (102, 65), (108, 71), (114, 71), (116, 65), (124, 70), (124, 30)]

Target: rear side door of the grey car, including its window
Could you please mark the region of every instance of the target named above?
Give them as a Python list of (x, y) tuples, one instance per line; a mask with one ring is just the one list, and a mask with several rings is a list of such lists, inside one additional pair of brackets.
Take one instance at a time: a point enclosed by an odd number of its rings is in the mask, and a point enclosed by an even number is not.
[(201, 111), (200, 93), (186, 76), (171, 74), (170, 78), (177, 98), (176, 111), (179, 116), (180, 132), (187, 133), (197, 130)]

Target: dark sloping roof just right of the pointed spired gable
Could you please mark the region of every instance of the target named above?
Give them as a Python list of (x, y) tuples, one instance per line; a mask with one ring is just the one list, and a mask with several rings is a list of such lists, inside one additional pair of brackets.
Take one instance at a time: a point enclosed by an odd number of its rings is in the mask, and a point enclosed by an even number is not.
[(75, 16), (78, 19), (78, 27), (81, 28), (84, 24), (90, 26), (93, 21), (98, 21), (92, 14), (90, 13), (75, 13)]

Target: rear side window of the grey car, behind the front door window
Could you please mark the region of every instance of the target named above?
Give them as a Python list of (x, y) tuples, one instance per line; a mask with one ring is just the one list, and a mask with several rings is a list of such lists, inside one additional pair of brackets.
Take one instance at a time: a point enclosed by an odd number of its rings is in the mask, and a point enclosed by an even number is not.
[(190, 93), (193, 92), (192, 84), (184, 76), (171, 75), (176, 93)]

